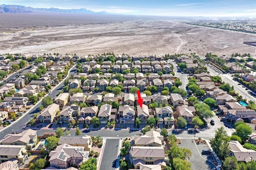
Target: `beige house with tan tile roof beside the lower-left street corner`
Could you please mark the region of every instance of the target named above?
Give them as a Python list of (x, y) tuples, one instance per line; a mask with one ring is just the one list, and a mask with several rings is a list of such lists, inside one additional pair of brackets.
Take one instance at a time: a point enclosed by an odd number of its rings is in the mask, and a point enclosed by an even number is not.
[(1, 145), (25, 145), (27, 150), (33, 150), (36, 143), (36, 131), (32, 129), (27, 129), (19, 134), (7, 134), (0, 140)]

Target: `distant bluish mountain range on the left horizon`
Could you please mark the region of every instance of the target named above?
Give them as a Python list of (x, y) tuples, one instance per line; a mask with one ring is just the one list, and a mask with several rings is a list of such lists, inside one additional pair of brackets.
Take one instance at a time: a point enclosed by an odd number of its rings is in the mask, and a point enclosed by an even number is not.
[(66, 13), (83, 13), (83, 14), (108, 14), (108, 12), (94, 12), (86, 10), (85, 8), (80, 9), (68, 9), (63, 10), (59, 8), (32, 8), (21, 5), (0, 5), (0, 13), (33, 13), (33, 12), (66, 12)]

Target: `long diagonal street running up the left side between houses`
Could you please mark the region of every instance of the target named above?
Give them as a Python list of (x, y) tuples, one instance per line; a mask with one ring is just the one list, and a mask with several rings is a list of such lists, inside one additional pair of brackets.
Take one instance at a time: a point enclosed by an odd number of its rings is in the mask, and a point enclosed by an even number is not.
[[(68, 74), (67, 78), (71, 74), (74, 74), (75, 70), (76, 70), (76, 67), (72, 68), (70, 70), (70, 73)], [(56, 86), (56, 89), (52, 90), (52, 93), (49, 94), (49, 96), (51, 96), (52, 98), (55, 97), (56, 94), (58, 94), (58, 92), (60, 90), (62, 90), (63, 87), (64, 87), (64, 81), (62, 83), (58, 84), (58, 86)], [(19, 119), (14, 121), (7, 128), (2, 129), (0, 131), (1, 132), (0, 133), (0, 139), (2, 139), (8, 133), (12, 133), (12, 132), (20, 133), (20, 132), (24, 131), (23, 125), (26, 124), (28, 121), (30, 121), (30, 119), (32, 119), (34, 113), (38, 113), (39, 112), (39, 107), (40, 106), (41, 106), (41, 102), (38, 102), (33, 109), (31, 109), (30, 111), (27, 111), (26, 113), (24, 113), (23, 117), (20, 117)]]

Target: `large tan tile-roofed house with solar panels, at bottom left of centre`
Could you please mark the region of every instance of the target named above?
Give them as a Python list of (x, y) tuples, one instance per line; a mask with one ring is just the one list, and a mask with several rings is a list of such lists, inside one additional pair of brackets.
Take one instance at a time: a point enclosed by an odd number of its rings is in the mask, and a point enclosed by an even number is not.
[(66, 169), (70, 166), (80, 166), (82, 162), (88, 160), (89, 151), (84, 147), (76, 147), (68, 144), (62, 144), (49, 153), (50, 166), (54, 168)]

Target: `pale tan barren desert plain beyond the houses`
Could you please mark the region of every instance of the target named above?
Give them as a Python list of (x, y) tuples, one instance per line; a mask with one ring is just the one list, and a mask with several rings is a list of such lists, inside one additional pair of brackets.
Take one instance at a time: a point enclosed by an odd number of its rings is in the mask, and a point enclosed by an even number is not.
[(256, 35), (188, 25), (170, 20), (132, 20), (86, 25), (35, 27), (4, 30), (0, 53), (62, 53), (88, 55), (114, 52), (128, 55), (212, 52), (217, 55), (250, 53), (243, 44)]

